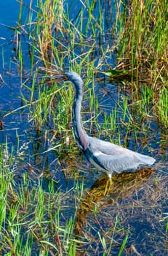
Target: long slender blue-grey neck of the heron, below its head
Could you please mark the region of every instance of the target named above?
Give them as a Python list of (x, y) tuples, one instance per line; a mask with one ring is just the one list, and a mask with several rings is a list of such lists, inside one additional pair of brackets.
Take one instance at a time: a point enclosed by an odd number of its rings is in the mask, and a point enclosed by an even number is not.
[(73, 102), (73, 130), (79, 148), (85, 151), (87, 149), (87, 132), (85, 132), (81, 123), (81, 101), (82, 91), (78, 93)]

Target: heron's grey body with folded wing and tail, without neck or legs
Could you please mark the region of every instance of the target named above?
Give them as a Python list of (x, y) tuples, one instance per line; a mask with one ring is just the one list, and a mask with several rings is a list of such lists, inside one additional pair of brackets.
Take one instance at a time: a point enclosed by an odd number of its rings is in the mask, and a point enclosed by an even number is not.
[(134, 169), (139, 165), (152, 165), (155, 162), (152, 157), (122, 148), (113, 143), (92, 139), (89, 140), (88, 155), (92, 154), (92, 163), (103, 170), (120, 173), (122, 170)]

